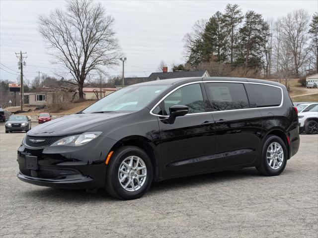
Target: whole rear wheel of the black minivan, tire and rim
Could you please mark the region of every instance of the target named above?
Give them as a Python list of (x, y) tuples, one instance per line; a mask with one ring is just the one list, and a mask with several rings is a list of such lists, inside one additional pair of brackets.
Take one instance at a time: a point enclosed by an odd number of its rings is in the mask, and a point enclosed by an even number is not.
[[(274, 143), (274, 144), (273, 144)], [(274, 145), (280, 145), (281, 149), (277, 150), (277, 155), (283, 153), (283, 159), (278, 156), (278, 159), (274, 159), (273, 162), (271, 162), (270, 159), (267, 157), (271, 156), (271, 153), (268, 152), (267, 150), (270, 149), (270, 145), (273, 145), (272, 149), (275, 149)], [(279, 148), (278, 146), (276, 148)], [(260, 165), (256, 167), (257, 171), (264, 176), (277, 176), (280, 175), (287, 163), (287, 148), (285, 142), (278, 136), (276, 135), (269, 135), (264, 142), (263, 148), (262, 148), (262, 154), (260, 158)], [(275, 153), (274, 153), (275, 156)], [(281, 161), (282, 160), (282, 161)], [(276, 167), (275, 167), (276, 165)], [(272, 168), (274, 167), (274, 168)]]

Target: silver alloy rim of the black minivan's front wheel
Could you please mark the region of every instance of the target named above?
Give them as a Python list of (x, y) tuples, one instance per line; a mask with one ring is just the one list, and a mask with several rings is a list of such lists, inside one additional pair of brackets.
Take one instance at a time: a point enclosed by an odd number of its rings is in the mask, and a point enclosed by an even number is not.
[(127, 157), (119, 166), (119, 183), (126, 191), (139, 190), (145, 184), (146, 178), (146, 164), (138, 156)]

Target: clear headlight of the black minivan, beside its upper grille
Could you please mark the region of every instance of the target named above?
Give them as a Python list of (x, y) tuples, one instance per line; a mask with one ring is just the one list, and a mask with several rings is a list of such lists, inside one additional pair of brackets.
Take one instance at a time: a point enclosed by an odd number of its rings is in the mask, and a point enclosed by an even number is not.
[(80, 146), (87, 144), (89, 141), (92, 141), (97, 136), (99, 136), (102, 132), (101, 131), (94, 131), (94, 132), (85, 132), (80, 135), (71, 135), (64, 137), (55, 143), (53, 143), (51, 146), (56, 145), (68, 145), (68, 146)]

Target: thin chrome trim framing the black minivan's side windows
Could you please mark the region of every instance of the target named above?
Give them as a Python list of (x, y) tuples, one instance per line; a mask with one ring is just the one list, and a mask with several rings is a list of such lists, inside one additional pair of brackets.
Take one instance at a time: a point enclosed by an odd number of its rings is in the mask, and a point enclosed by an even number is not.
[[(210, 114), (210, 113), (224, 113), (224, 112), (237, 112), (237, 111), (246, 111), (246, 110), (256, 110), (256, 109), (267, 109), (267, 108), (281, 108), (283, 106), (283, 102), (284, 102), (284, 94), (283, 94), (283, 89), (279, 86), (276, 85), (271, 85), (271, 84), (267, 84), (267, 83), (256, 83), (256, 82), (246, 82), (246, 81), (225, 81), (225, 80), (208, 80), (208, 81), (195, 81), (195, 82), (190, 82), (190, 83), (185, 83), (182, 84), (178, 87), (176, 87), (175, 89), (172, 89), (170, 92), (168, 92), (164, 97), (162, 97), (159, 102), (150, 110), (150, 114), (154, 115), (156, 117), (161, 117), (161, 118), (168, 118), (169, 116), (163, 116), (163, 115), (158, 115), (158, 114), (154, 114), (153, 111), (155, 110), (156, 107), (158, 107), (158, 105), (166, 98), (168, 97), (171, 93), (173, 93), (174, 91), (178, 90), (179, 88), (182, 88), (184, 86), (190, 85), (190, 84), (195, 84), (195, 83), (245, 83), (245, 84), (260, 84), (260, 85), (265, 85), (265, 86), (271, 86), (271, 87), (275, 87), (275, 88), (279, 88), (281, 90), (282, 93), (282, 99), (281, 99), (281, 103), (279, 106), (273, 106), (273, 107), (261, 107), (261, 108), (244, 108), (244, 109), (234, 109), (234, 110), (224, 110), (224, 111), (214, 111), (214, 112), (204, 112), (204, 113), (190, 113), (190, 114), (186, 114), (185, 116), (193, 116), (193, 115), (201, 115), (201, 114)], [(247, 95), (248, 96), (248, 95)]]

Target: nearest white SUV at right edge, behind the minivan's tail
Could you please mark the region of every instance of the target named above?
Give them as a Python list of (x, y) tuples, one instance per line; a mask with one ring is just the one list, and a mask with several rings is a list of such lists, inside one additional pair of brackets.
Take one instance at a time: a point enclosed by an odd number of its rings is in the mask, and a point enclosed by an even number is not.
[(318, 133), (318, 104), (312, 104), (304, 109), (299, 115), (300, 132), (307, 134)]

